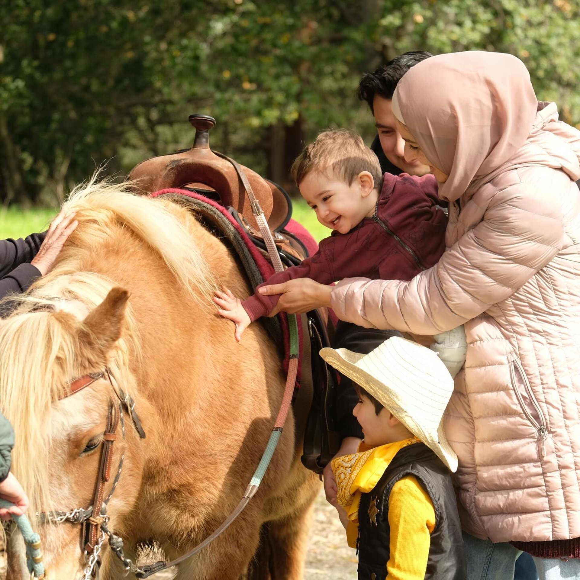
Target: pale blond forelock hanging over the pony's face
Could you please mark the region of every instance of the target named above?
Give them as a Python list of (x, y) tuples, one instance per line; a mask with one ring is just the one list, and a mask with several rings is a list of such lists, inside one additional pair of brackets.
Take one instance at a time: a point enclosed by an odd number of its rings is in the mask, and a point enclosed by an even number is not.
[[(95, 273), (41, 280), (28, 295), (13, 299), (13, 314), (0, 320), (0, 404), (16, 435), (13, 470), (31, 501), (31, 513), (51, 506), (48, 489), (52, 404), (68, 382), (88, 372), (79, 357), (78, 328), (86, 311), (99, 305), (112, 282)], [(61, 296), (57, 296), (60, 294)], [(129, 351), (140, 357), (131, 309), (124, 338), (111, 353), (114, 376), (131, 391)], [(91, 369), (95, 370), (95, 369)]]

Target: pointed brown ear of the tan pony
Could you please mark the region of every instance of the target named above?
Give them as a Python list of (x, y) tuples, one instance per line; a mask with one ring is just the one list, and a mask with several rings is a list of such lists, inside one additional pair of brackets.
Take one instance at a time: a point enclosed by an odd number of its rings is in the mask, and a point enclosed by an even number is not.
[(107, 355), (121, 338), (129, 292), (111, 288), (107, 297), (86, 316), (78, 329), (79, 345), (92, 364), (107, 364)]

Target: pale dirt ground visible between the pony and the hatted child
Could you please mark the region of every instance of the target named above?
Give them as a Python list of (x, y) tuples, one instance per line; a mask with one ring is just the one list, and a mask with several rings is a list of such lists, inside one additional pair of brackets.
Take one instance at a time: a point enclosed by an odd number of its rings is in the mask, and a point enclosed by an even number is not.
[[(170, 580), (173, 573), (157, 574), (155, 578)], [(357, 578), (357, 558), (354, 550), (346, 545), (345, 530), (336, 516), (336, 510), (324, 499), (322, 491), (314, 507), (304, 578), (305, 580)]]

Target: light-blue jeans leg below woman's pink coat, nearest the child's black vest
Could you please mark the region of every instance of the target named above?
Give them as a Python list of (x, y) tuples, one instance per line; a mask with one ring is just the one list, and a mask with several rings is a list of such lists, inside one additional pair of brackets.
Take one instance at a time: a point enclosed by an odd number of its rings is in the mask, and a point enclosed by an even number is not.
[(510, 543), (480, 540), (463, 532), (467, 580), (513, 580), (516, 560), (521, 554)]

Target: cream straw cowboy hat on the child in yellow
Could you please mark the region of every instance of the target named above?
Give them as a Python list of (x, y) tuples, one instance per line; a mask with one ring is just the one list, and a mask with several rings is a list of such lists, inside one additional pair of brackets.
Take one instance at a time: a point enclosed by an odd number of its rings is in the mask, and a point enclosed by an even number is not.
[(457, 469), (441, 425), (454, 382), (437, 354), (393, 336), (369, 354), (322, 349), (320, 356), (375, 397), (452, 472)]

